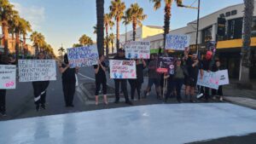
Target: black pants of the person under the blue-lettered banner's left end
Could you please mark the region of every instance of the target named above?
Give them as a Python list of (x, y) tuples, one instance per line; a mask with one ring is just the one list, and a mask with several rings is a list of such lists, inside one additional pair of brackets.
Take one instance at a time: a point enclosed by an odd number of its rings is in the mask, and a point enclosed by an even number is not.
[(76, 82), (63, 82), (62, 81), (62, 89), (64, 93), (64, 100), (66, 106), (73, 105), (73, 95), (76, 90)]

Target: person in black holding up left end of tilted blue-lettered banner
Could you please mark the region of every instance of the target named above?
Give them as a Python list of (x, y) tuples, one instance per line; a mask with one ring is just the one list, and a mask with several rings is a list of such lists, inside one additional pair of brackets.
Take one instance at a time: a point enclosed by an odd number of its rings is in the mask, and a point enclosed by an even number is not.
[(76, 89), (75, 74), (79, 72), (79, 68), (70, 68), (67, 54), (64, 55), (64, 64), (59, 64), (59, 70), (62, 73), (62, 89), (64, 93), (64, 100), (66, 107), (73, 106), (73, 95)]

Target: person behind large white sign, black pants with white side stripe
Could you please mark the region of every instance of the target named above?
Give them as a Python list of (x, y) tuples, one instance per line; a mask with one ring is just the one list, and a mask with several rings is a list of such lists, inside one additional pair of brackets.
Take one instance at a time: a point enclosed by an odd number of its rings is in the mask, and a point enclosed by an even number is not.
[[(38, 53), (38, 59), (44, 60), (45, 55), (43, 52)], [(34, 89), (34, 101), (36, 105), (36, 110), (38, 111), (41, 107), (45, 109), (45, 98), (46, 98), (46, 89), (49, 86), (49, 81), (36, 81), (32, 82), (32, 87)]]

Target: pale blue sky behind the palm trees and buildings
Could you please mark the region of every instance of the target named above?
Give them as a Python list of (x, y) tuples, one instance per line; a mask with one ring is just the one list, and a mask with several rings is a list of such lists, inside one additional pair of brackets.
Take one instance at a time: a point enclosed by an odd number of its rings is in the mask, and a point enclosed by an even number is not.
[[(96, 0), (9, 0), (20, 12), (20, 16), (29, 20), (32, 30), (44, 34), (46, 42), (55, 49), (63, 47), (71, 48), (73, 43), (79, 43), (79, 37), (83, 34), (96, 41), (93, 26), (96, 25)], [(105, 0), (105, 13), (109, 12), (111, 0)], [(149, 0), (123, 0), (126, 9), (131, 3), (138, 3), (148, 18), (143, 25), (163, 26), (164, 5), (154, 11), (154, 3)], [(184, 5), (197, 6), (197, 0), (183, 0)], [(201, 17), (224, 9), (225, 7), (243, 3), (243, 0), (201, 0)], [(197, 17), (196, 9), (177, 8), (172, 4), (171, 29), (186, 26), (188, 22)], [(132, 27), (128, 26), (128, 31)], [(110, 32), (109, 32), (110, 33)], [(115, 27), (113, 27), (115, 33)], [(120, 33), (125, 33), (125, 26), (120, 26)]]

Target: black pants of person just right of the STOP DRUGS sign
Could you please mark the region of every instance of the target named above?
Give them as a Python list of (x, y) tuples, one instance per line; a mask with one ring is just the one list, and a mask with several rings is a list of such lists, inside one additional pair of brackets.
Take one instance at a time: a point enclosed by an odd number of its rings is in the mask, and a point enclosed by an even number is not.
[(137, 98), (140, 100), (142, 83), (139, 82), (137, 79), (129, 79), (128, 81), (129, 81), (129, 84), (131, 85), (131, 100), (134, 99), (136, 89), (137, 89)]

